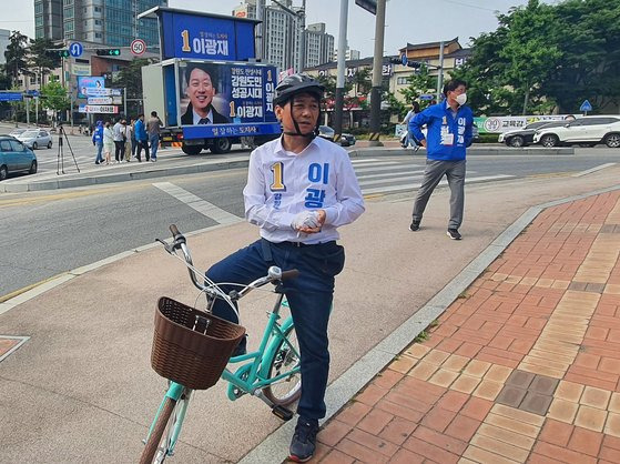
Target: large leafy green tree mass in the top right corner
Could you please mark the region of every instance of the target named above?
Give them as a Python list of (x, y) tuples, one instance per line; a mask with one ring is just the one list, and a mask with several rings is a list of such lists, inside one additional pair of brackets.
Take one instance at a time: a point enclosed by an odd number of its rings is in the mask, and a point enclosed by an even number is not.
[(577, 112), (586, 99), (604, 112), (620, 102), (620, 2), (530, 0), (498, 21), (451, 72), (469, 83), (478, 112)]

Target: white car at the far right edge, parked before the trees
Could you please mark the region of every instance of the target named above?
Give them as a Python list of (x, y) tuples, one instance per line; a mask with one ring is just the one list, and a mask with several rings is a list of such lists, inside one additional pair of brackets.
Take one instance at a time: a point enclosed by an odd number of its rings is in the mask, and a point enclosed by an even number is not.
[(542, 147), (604, 143), (620, 148), (620, 117), (583, 117), (560, 127), (543, 127), (533, 134), (533, 143)]

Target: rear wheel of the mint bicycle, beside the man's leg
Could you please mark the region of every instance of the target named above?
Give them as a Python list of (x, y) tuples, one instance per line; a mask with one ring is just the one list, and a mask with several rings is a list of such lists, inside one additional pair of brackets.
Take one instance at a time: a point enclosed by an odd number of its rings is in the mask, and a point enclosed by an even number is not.
[[(272, 356), (265, 360), (270, 366), (267, 379), (292, 371), (299, 365), (299, 343), (295, 326), (291, 325), (284, 332), (284, 337), (279, 339), (276, 350), (272, 351)], [(274, 404), (287, 406), (296, 402), (302, 394), (302, 373), (292, 373), (273, 384), (265, 386), (263, 393)]]

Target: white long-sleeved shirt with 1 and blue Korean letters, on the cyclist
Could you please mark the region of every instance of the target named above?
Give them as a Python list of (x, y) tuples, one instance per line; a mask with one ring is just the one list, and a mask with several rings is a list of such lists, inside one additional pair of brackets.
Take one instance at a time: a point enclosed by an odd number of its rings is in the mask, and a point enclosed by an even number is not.
[[(245, 218), (261, 228), (261, 236), (276, 243), (337, 240), (336, 228), (352, 223), (365, 210), (348, 153), (321, 138), (298, 154), (286, 151), (282, 138), (254, 150), (243, 196)], [(321, 232), (298, 234), (291, 226), (306, 210), (325, 211)]]

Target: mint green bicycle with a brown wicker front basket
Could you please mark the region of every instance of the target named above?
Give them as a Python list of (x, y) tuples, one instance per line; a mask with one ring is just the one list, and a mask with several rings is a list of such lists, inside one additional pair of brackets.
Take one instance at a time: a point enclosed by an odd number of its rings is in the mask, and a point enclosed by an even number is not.
[[(225, 294), (217, 284), (204, 281), (204, 273), (192, 263), (185, 236), (173, 224), (173, 242), (162, 243), (165, 250), (182, 260), (192, 283), (206, 295), (206, 312), (195, 310), (172, 299), (162, 297), (155, 316), (155, 337), (151, 363), (162, 376), (169, 379), (167, 391), (143, 441), (140, 463), (162, 463), (174, 454), (183, 421), (194, 390), (213, 386), (221, 377), (228, 382), (227, 397), (235, 401), (245, 394), (261, 399), (272, 412), (288, 421), (293, 412), (287, 408), (302, 393), (299, 346), (291, 316), (281, 321), (279, 311), (287, 306), (279, 283), (298, 275), (296, 270), (282, 272), (272, 266), (267, 275), (248, 285), (237, 285)], [(183, 258), (176, 254), (181, 251)], [(255, 352), (231, 357), (244, 336), (245, 330), (211, 314), (215, 299), (225, 300), (237, 313), (236, 302), (254, 289), (274, 284), (277, 297)], [(230, 285), (230, 283), (226, 283)], [(238, 316), (238, 313), (237, 313)], [(228, 364), (228, 366), (226, 366)], [(238, 364), (236, 370), (232, 365)]]

